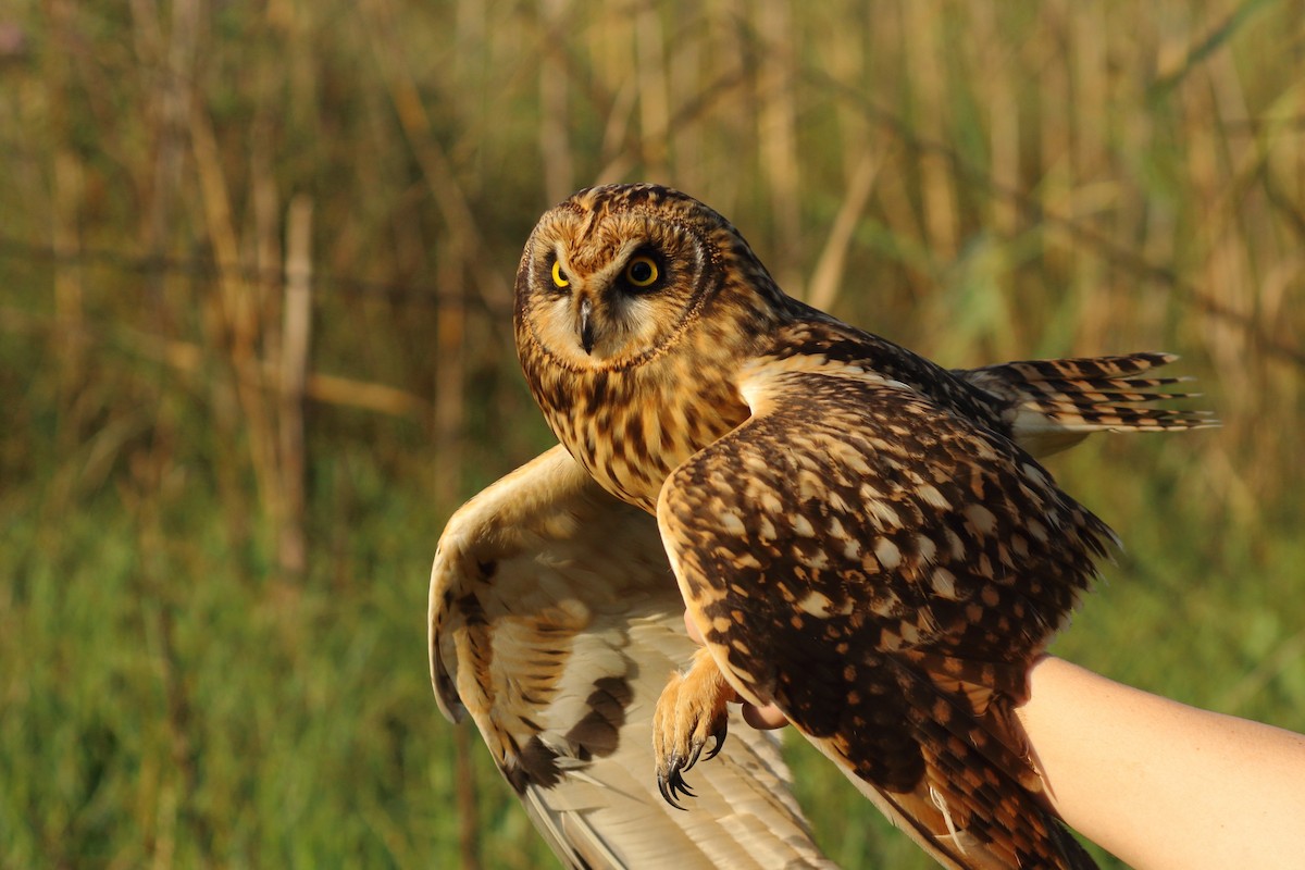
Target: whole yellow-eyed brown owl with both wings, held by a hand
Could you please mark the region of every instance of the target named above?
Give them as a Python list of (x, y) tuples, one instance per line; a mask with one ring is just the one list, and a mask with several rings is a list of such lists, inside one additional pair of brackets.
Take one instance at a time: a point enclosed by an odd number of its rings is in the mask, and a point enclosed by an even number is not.
[[(603, 796), (655, 781), (690, 810), (666, 830), (769, 794), (752, 820), (775, 836), (731, 847), (820, 863), (769, 745), (729, 727), (739, 699), (778, 706), (944, 866), (1094, 866), (1013, 710), (1116, 539), (1037, 459), (1098, 430), (1212, 424), (1141, 404), (1185, 397), (1148, 373), (1173, 356), (947, 370), (787, 296), (729, 222), (650, 184), (543, 215), (513, 322), (561, 449), (441, 539), (432, 673), (560, 854), (602, 865), (576, 843), (612, 853), (629, 833), (596, 822)], [(701, 650), (676, 631), (681, 608)], [(655, 665), (634, 642), (651, 626), (675, 634)], [(636, 673), (663, 680), (655, 699), (629, 690)], [(604, 751), (642, 788), (606, 783)], [(582, 801), (544, 800), (568, 779)], [(578, 805), (592, 823), (570, 836)], [(709, 839), (705, 866), (720, 863)]]

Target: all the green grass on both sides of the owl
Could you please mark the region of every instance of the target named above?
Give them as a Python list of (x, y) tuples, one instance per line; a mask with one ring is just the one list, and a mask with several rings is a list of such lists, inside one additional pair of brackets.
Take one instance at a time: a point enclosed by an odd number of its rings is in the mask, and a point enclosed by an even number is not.
[[(1118, 481), (1101, 489), (1146, 501), (1172, 483), (1148, 447), (1066, 463), (1065, 477), (1104, 468)], [(1151, 468), (1141, 484), (1126, 477), (1130, 462)], [(354, 501), (345, 515), (316, 515), (315, 540), (339, 561), (317, 562), (301, 586), (243, 570), (262, 560), (230, 552), (221, 507), (202, 489), (187, 488), (172, 518), (164, 507), (142, 520), (107, 490), (57, 520), (42, 505), (7, 517), (0, 863), (455, 861), (452, 725), (424, 663), (438, 518), (420, 487), (384, 480), (363, 451), (325, 464), (318, 476), (350, 487)], [(1232, 569), (1211, 558), (1220, 545), (1191, 549), (1163, 517), (1125, 532), (1129, 553), (1142, 552), (1108, 569), (1057, 652), (1305, 729), (1305, 665), (1278, 655), (1300, 638), (1282, 597), (1297, 582), (1300, 544), (1284, 535), (1261, 567)], [(485, 866), (547, 866), (476, 747)], [(791, 758), (835, 861), (928, 866), (816, 753), (791, 746)]]

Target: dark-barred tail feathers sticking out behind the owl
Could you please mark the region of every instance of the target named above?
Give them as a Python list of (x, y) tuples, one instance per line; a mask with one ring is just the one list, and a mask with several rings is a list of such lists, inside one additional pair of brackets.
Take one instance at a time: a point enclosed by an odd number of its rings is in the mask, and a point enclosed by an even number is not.
[(1219, 425), (1211, 411), (1134, 407), (1199, 393), (1158, 393), (1185, 377), (1137, 377), (1178, 359), (1173, 353), (1129, 353), (1067, 360), (1024, 360), (958, 370), (990, 395), (1015, 442), (1035, 457), (1071, 447), (1094, 432), (1169, 432)]

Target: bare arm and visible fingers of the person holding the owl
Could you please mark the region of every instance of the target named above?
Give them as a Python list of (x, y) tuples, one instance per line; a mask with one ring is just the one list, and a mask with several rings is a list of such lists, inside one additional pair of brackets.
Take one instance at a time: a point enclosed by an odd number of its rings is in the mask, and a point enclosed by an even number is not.
[[(1139, 870), (1305, 866), (1305, 736), (1052, 656), (1028, 685), (1015, 712), (1052, 802), (1083, 836)], [(743, 715), (753, 728), (787, 724), (773, 706)]]

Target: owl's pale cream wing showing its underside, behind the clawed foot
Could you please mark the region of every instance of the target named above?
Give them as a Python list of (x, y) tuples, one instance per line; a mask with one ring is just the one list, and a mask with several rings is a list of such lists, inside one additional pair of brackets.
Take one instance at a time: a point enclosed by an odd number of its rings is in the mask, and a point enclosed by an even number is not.
[(570, 867), (829, 866), (770, 736), (737, 738), (669, 807), (652, 708), (694, 646), (656, 523), (553, 447), (465, 505), (431, 578), (440, 708), (470, 712), (499, 770)]

